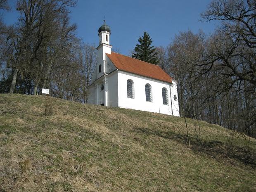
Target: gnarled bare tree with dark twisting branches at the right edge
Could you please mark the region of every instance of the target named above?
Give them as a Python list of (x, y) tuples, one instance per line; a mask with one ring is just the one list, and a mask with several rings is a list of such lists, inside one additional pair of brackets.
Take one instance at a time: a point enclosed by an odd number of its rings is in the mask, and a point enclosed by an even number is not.
[[(218, 95), (227, 100), (221, 110), (227, 114), (229, 128), (254, 135), (256, 126), (256, 1), (213, 0), (201, 14), (203, 21), (220, 20), (204, 55), (206, 70), (218, 68), (222, 84)], [(228, 97), (227, 97), (228, 95)], [(228, 110), (226, 110), (228, 109)], [(225, 112), (224, 112), (225, 111)], [(232, 123), (235, 122), (234, 123)], [(224, 123), (227, 126), (227, 122)]]

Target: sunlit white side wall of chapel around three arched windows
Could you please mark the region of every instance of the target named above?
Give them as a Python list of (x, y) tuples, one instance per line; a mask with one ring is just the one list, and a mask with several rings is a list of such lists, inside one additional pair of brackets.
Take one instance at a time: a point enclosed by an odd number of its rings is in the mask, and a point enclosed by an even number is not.
[[(134, 83), (134, 98), (127, 97), (128, 79), (131, 79)], [(146, 101), (145, 85), (147, 83), (152, 86), (152, 102)], [(170, 83), (138, 76), (124, 71), (118, 71), (119, 107), (172, 115), (169, 85)], [(162, 88), (166, 88), (168, 90), (168, 105), (163, 104)], [(171, 88), (171, 92), (171, 95), (178, 95), (177, 92), (175, 92), (175, 88)], [(174, 101), (172, 103), (176, 104)], [(173, 115), (179, 116), (177, 111), (175, 111)]]

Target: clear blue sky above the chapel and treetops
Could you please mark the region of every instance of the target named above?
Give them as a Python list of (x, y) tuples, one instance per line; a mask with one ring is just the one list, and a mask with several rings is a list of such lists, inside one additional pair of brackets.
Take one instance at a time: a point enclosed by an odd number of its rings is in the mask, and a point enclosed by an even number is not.
[[(4, 12), (4, 21), (14, 24), (18, 13), (16, 0), (9, 0), (12, 10)], [(206, 35), (214, 31), (216, 24), (199, 21), (211, 0), (78, 0), (71, 8), (71, 22), (78, 26), (78, 37), (85, 43), (97, 45), (98, 28), (106, 24), (111, 28), (110, 44), (128, 55), (144, 31), (149, 33), (155, 46), (167, 46), (179, 31)]]

